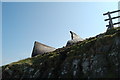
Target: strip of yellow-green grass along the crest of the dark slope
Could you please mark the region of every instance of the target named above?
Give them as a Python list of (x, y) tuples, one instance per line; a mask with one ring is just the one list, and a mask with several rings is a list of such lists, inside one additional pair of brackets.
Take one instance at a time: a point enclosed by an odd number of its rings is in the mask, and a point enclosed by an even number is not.
[[(109, 41), (110, 39), (114, 38), (114, 36), (120, 36), (119, 33), (120, 33), (120, 27), (112, 28), (108, 30), (106, 33), (100, 34), (102, 35), (101, 37), (92, 37), (84, 40), (83, 42), (78, 42), (77, 44), (74, 44), (72, 46), (57, 49), (56, 51), (51, 52), (50, 54), (38, 55), (36, 57), (27, 58), (27, 59), (20, 60), (18, 62), (14, 62), (8, 65), (13, 65), (13, 64), (32, 65), (33, 63), (35, 62), (37, 63), (37, 61), (40, 61), (40, 59), (45, 60), (45, 59), (51, 59), (56, 56), (59, 56), (59, 53), (62, 53), (62, 52), (67, 52), (68, 54), (76, 53), (75, 51), (78, 51), (78, 50), (79, 52), (86, 52), (86, 50), (89, 50), (89, 48), (92, 47), (96, 41), (101, 42), (102, 44), (105, 44), (106, 41)], [(5, 65), (5, 66), (8, 66), (8, 65)]]

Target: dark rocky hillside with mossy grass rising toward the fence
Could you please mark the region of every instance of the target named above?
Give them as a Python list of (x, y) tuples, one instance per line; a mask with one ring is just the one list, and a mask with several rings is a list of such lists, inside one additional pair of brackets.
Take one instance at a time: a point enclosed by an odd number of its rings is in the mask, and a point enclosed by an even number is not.
[(120, 78), (120, 27), (2, 66), (5, 78)]

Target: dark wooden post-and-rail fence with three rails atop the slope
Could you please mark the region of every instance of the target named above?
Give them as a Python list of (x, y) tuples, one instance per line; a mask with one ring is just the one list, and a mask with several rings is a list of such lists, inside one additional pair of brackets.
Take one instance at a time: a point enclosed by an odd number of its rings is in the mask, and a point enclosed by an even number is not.
[(120, 18), (120, 16), (116, 16), (116, 17), (111, 17), (111, 14), (112, 13), (116, 13), (116, 12), (120, 12), (120, 10), (116, 10), (116, 11), (112, 11), (112, 12), (107, 12), (107, 13), (104, 13), (103, 15), (108, 15), (108, 19), (105, 19), (105, 21), (108, 21), (109, 20), (109, 25), (106, 25), (106, 27), (108, 27), (108, 29), (114, 27), (114, 25), (117, 25), (117, 24), (120, 24), (120, 22), (117, 22), (117, 23), (113, 23), (113, 19), (117, 19), (117, 18)]

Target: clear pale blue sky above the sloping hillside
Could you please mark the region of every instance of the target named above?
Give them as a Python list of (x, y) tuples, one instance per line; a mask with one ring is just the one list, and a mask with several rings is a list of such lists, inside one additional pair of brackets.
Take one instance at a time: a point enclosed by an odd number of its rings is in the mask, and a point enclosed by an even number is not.
[(103, 33), (103, 13), (117, 9), (118, 2), (3, 2), (2, 65), (31, 57), (35, 41), (61, 48), (70, 30), (83, 39)]

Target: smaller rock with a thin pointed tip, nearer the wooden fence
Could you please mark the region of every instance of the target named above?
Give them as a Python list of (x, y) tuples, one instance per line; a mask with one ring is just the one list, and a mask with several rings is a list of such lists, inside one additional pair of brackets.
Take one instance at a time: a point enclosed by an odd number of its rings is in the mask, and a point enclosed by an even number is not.
[(80, 36), (78, 36), (76, 33), (72, 31), (70, 31), (70, 33), (71, 33), (71, 40), (67, 41), (66, 46), (73, 45), (79, 41), (83, 41), (83, 39)]

